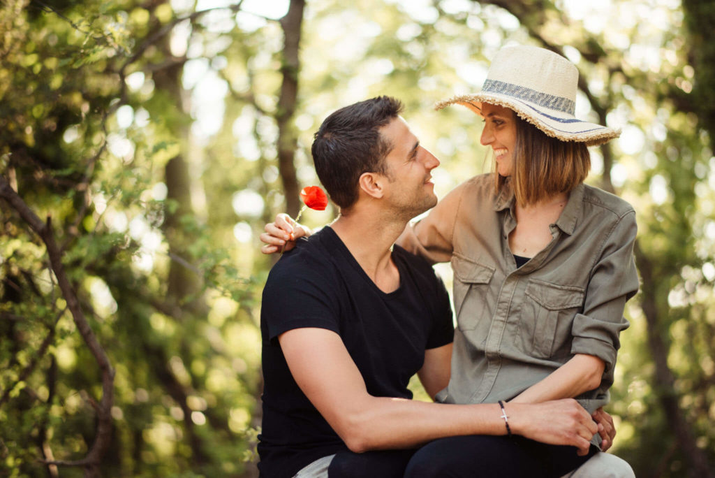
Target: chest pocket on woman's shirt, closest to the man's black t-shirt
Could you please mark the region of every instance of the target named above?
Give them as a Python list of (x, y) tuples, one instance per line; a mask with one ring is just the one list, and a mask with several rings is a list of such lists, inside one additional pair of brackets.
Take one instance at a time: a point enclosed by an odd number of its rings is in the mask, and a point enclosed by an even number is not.
[(451, 263), (457, 326), (463, 331), (473, 330), (483, 317), (491, 316), (489, 283), (495, 269), (459, 253), (452, 255)]

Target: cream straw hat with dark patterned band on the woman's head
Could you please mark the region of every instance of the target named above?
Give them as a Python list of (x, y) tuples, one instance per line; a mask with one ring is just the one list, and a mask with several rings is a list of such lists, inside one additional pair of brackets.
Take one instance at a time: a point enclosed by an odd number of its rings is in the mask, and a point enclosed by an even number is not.
[(458, 103), (480, 114), (482, 103), (513, 109), (521, 119), (562, 141), (601, 145), (621, 130), (576, 119), (578, 69), (561, 55), (537, 47), (504, 47), (495, 55), (482, 91), (445, 99), (442, 109)]

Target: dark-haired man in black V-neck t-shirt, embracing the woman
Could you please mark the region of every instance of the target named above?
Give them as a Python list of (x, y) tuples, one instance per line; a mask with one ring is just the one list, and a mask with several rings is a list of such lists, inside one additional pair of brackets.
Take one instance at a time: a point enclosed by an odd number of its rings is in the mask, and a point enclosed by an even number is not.
[[(315, 169), (340, 217), (285, 254), (263, 291), (262, 476), (401, 477), (409, 449), (467, 434), (585, 453), (599, 429), (571, 399), (504, 408), (410, 400), (415, 373), (430, 396), (447, 385), (453, 325), (430, 265), (393, 245), (437, 202), (439, 162), (401, 110), (396, 99), (368, 99), (332, 113), (315, 135)], [(264, 236), (273, 244), (264, 252), (282, 247)]]

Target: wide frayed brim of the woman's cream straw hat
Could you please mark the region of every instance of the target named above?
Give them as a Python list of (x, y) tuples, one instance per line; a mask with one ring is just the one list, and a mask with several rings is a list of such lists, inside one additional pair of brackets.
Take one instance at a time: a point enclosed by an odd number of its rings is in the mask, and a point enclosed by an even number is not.
[(443, 109), (450, 104), (462, 104), (473, 112), (481, 114), (482, 103), (498, 104), (513, 109), (518, 117), (531, 123), (547, 136), (561, 141), (584, 142), (587, 146), (602, 145), (621, 135), (621, 130), (581, 121), (571, 114), (548, 109), (518, 98), (495, 93), (476, 93), (455, 96), (435, 103), (435, 109)]

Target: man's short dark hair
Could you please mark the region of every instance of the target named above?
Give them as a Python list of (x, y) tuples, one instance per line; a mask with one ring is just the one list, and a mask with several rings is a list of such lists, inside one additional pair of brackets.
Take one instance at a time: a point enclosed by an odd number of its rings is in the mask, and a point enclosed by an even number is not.
[(320, 125), (312, 144), (315, 171), (340, 208), (350, 208), (358, 200), (363, 172), (386, 173), (384, 160), (393, 145), (380, 135), (380, 127), (402, 110), (399, 99), (371, 98), (338, 109)]

